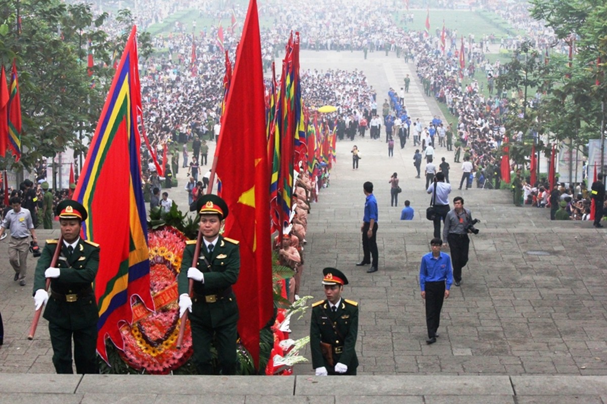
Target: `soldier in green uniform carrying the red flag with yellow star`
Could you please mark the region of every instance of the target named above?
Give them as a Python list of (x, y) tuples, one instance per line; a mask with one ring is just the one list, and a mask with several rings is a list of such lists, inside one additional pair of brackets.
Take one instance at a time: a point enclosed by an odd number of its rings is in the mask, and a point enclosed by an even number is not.
[[(178, 276), (179, 315), (188, 310), (192, 328), (194, 364), (198, 374), (215, 374), (211, 345), (215, 341), (219, 374), (236, 374), (236, 323), (239, 312), (232, 285), (240, 271), (238, 241), (219, 234), (228, 217), (228, 205), (217, 195), (203, 195), (196, 201), (200, 214), (198, 262), (192, 263), (196, 241), (187, 241)], [(189, 280), (194, 281), (192, 296)]]

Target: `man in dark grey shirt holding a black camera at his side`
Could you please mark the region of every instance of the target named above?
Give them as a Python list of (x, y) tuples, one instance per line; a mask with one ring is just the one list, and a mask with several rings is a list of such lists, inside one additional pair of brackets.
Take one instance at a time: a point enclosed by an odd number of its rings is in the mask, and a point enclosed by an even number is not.
[(470, 246), (468, 233), (478, 234), (478, 229), (474, 227), (474, 224), (478, 221), (478, 219), (472, 219), (470, 209), (464, 208), (464, 198), (453, 198), (453, 209), (449, 210), (445, 219), (443, 240), (447, 240), (447, 243), (449, 243), (455, 286), (461, 284), (461, 269), (468, 262)]

